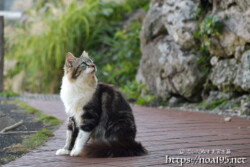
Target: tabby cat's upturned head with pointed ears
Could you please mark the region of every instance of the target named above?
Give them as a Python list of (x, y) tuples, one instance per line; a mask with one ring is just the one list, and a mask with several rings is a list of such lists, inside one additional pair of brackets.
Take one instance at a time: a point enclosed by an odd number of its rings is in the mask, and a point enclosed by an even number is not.
[(79, 58), (69, 52), (66, 55), (64, 71), (64, 74), (71, 81), (79, 79), (89, 80), (95, 78), (97, 68), (94, 62), (88, 57), (87, 52), (83, 51)]

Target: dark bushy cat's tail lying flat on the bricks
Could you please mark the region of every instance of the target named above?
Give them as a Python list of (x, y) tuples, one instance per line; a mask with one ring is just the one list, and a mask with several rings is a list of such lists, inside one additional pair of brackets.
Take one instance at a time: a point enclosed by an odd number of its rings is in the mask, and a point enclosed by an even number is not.
[(147, 154), (141, 143), (134, 140), (126, 142), (92, 141), (84, 146), (83, 156), (89, 158), (130, 157)]

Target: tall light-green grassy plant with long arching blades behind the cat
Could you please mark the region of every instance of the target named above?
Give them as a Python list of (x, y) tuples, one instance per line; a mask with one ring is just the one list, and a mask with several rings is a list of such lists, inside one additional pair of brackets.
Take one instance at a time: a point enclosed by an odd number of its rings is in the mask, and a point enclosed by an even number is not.
[[(126, 13), (143, 7), (148, 2), (148, 0), (122, 2), (85, 0), (82, 3), (72, 1), (65, 7), (59, 8), (56, 15), (53, 10), (48, 10), (39, 16), (41, 17), (39, 21), (21, 26), (13, 32), (15, 40), (7, 47), (7, 57), (17, 59), (19, 62), (16, 69), (13, 69), (14, 73), (25, 71), (26, 90), (58, 92), (65, 54), (70, 51), (78, 56), (85, 49), (90, 52), (94, 60), (107, 59), (102, 51), (98, 51), (100, 46), (106, 46), (105, 40), (114, 36)], [(35, 24), (40, 27), (36, 30), (39, 33), (31, 31)], [(10, 42), (8, 38), (6, 41)], [(104, 64), (99, 64), (99, 69), (102, 69)]]

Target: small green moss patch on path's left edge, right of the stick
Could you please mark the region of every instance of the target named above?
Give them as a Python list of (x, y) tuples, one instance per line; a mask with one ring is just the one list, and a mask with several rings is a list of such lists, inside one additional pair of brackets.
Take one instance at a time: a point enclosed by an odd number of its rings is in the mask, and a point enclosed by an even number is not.
[(22, 145), (27, 149), (34, 149), (37, 146), (41, 146), (51, 136), (54, 135), (50, 130), (42, 129), (31, 135), (30, 138), (24, 139)]

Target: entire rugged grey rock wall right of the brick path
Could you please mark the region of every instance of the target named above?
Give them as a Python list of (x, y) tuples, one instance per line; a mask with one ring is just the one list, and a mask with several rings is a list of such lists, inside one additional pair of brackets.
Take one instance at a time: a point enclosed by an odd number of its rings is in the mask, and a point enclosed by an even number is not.
[[(217, 17), (224, 25), (223, 33), (211, 38), (208, 79), (224, 92), (250, 92), (250, 2), (205, 3), (211, 6), (205, 17)], [(200, 0), (151, 1), (140, 33), (142, 58), (136, 80), (163, 99), (177, 95), (196, 101), (201, 95), (206, 78), (197, 61), (199, 44), (193, 33), (202, 5)]]

